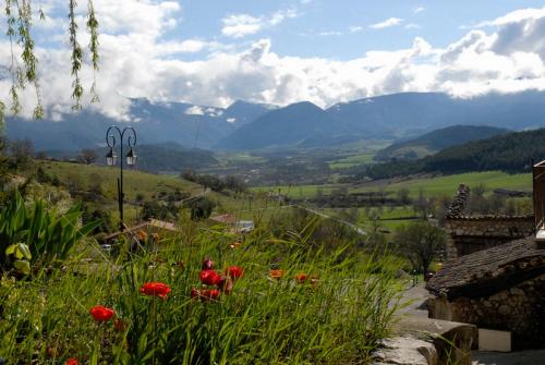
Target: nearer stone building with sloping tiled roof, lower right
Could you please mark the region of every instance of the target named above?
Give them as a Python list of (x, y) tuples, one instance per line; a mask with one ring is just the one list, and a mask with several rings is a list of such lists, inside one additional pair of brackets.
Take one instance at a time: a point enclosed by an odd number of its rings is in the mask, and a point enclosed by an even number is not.
[(545, 346), (545, 250), (534, 236), (452, 259), (426, 289), (429, 318), (510, 331), (514, 350)]

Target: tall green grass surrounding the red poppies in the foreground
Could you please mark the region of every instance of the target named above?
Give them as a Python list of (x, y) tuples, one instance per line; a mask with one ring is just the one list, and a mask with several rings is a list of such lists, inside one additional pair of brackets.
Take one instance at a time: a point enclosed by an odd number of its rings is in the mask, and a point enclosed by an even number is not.
[[(311, 227), (311, 226), (310, 226)], [(348, 247), (276, 239), (256, 230), (235, 248), (221, 231), (186, 223), (155, 252), (69, 260), (61, 270), (0, 281), (0, 357), (9, 363), (90, 364), (358, 364), (389, 332), (400, 297), (396, 265), (364, 263)], [(183, 238), (183, 239), (182, 239)], [(97, 255), (93, 243), (88, 257)], [(192, 299), (202, 261), (238, 265), (244, 276), (218, 301)], [(183, 265), (182, 265), (183, 261)], [(284, 271), (272, 279), (270, 268)], [(317, 280), (299, 283), (305, 272)], [(138, 292), (149, 281), (172, 288), (168, 300)], [(88, 309), (112, 307), (124, 329), (97, 324)]]

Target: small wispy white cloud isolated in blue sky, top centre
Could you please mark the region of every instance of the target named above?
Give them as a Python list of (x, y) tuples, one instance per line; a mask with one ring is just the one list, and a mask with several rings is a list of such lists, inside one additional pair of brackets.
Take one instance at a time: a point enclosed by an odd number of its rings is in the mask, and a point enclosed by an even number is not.
[(223, 27), (221, 34), (226, 37), (242, 38), (256, 34), (265, 28), (274, 27), (287, 19), (298, 16), (298, 13), (290, 10), (280, 10), (270, 15), (252, 16), (249, 14), (231, 14), (221, 20)]

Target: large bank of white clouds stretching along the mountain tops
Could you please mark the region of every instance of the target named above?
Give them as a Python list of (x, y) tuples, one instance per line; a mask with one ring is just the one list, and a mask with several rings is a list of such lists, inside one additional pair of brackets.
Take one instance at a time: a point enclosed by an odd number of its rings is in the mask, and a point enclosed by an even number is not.
[[(310, 100), (328, 107), (399, 92), (445, 92), (471, 97), (488, 92), (545, 89), (545, 16), (538, 16), (541, 11), (507, 14), (495, 28), (471, 31), (445, 48), (434, 48), (423, 38), (415, 38), (404, 49), (370, 51), (339, 61), (280, 56), (269, 39), (242, 50), (202, 39), (160, 40), (173, 15), (156, 3), (146, 20), (153, 31), (116, 28), (100, 35), (101, 68), (97, 81), (101, 102), (92, 108), (128, 120), (131, 115), (126, 97), (214, 107), (227, 107), (238, 99), (275, 105)], [(85, 37), (82, 34), (82, 45), (86, 44)], [(0, 65), (9, 64), (9, 44), (0, 40)], [(208, 53), (193, 61), (172, 57), (197, 51)], [(46, 87), (43, 92), (45, 105), (56, 115), (70, 111), (69, 50), (38, 47), (37, 52), (40, 83), (47, 85), (47, 92)], [(88, 90), (90, 69), (86, 66), (81, 76)], [(9, 100), (9, 78), (0, 80), (0, 99)], [(32, 112), (34, 90), (27, 88), (21, 99), (25, 111)], [(88, 102), (88, 98), (84, 101)], [(215, 113), (201, 107), (186, 112)]]

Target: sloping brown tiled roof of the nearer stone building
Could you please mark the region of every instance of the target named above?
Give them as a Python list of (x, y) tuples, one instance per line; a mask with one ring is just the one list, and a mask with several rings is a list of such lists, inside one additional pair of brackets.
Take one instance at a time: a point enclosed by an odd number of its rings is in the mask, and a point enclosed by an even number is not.
[(545, 250), (535, 236), (450, 260), (426, 284), (437, 296), (483, 297), (545, 273)]

